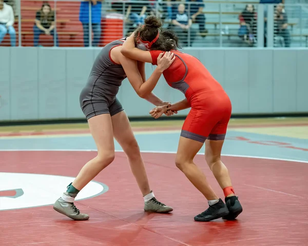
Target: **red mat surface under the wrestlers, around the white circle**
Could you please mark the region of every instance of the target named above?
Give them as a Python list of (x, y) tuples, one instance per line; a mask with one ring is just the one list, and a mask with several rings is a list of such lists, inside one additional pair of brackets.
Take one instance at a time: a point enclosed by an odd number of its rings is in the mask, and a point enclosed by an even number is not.
[[(114, 163), (95, 178), (109, 191), (76, 202), (90, 215), (88, 221), (70, 220), (52, 206), (0, 211), (0, 245), (307, 245), (306, 163), (223, 157), (244, 211), (236, 221), (196, 222), (194, 216), (207, 208), (206, 200), (175, 167), (175, 155), (142, 155), (151, 188), (174, 208), (172, 213), (143, 212), (143, 198), (125, 154), (117, 153)], [(94, 156), (95, 152), (1, 152), (0, 172), (76, 176)], [(195, 161), (223, 196), (203, 156)]]

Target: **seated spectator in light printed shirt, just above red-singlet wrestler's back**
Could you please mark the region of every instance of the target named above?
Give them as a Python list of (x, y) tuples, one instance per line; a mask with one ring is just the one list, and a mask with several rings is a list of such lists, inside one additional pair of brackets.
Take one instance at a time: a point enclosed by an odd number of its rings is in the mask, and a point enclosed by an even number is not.
[(173, 13), (172, 16), (172, 29), (177, 33), (179, 39), (182, 43), (182, 46), (188, 46), (188, 30), (190, 31), (190, 46), (195, 40), (196, 31), (191, 27), (192, 19), (188, 17), (187, 12), (185, 11), (185, 5), (180, 4), (178, 6), (178, 12)]

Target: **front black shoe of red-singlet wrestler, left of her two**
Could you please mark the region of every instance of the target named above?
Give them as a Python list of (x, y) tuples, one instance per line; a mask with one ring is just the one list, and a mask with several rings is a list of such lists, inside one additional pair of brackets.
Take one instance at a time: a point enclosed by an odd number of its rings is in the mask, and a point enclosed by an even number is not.
[(210, 221), (213, 219), (219, 219), (223, 216), (227, 216), (229, 210), (226, 204), (219, 198), (219, 202), (214, 205), (210, 205), (207, 210), (195, 216), (196, 221)]

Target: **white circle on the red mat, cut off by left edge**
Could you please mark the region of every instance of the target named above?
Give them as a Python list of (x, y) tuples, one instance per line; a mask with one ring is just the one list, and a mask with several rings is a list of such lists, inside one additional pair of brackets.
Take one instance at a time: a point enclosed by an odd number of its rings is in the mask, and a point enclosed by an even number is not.
[[(0, 210), (23, 209), (53, 204), (73, 177), (0, 172)], [(98, 196), (108, 190), (103, 183), (91, 181), (76, 200)]]

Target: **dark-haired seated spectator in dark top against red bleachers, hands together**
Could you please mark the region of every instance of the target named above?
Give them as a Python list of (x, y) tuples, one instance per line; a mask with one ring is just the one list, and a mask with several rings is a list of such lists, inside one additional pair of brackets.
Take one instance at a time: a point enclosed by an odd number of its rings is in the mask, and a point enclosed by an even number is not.
[(43, 3), (42, 8), (36, 12), (35, 24), (33, 26), (34, 34), (34, 47), (38, 46), (38, 41), (40, 40), (40, 35), (52, 35), (56, 38), (56, 46), (59, 46), (59, 39), (56, 32), (54, 31), (54, 12), (48, 3)]

